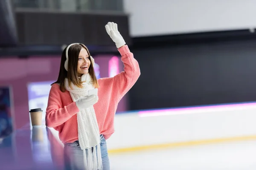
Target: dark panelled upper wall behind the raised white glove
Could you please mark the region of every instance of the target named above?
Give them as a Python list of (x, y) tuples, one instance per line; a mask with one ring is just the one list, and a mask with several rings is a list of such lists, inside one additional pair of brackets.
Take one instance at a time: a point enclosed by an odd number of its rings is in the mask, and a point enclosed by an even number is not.
[(113, 46), (106, 33), (108, 22), (118, 24), (119, 32), (130, 44), (127, 14), (65, 13), (49, 11), (15, 12), (20, 45), (63, 45), (81, 42), (85, 45)]

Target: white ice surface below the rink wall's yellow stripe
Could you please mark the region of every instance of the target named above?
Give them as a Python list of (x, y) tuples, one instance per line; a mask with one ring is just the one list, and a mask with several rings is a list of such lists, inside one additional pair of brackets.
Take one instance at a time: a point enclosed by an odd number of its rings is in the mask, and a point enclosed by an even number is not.
[(111, 170), (256, 170), (256, 140), (110, 153)]

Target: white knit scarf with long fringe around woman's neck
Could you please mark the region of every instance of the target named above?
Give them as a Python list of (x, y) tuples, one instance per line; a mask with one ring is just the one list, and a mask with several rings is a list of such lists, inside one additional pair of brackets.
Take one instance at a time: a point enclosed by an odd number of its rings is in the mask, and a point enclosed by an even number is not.
[[(73, 83), (71, 83), (72, 88), (70, 88), (67, 79), (65, 79), (65, 88), (70, 92), (73, 102), (81, 97), (88, 96), (88, 91), (94, 88), (89, 73), (83, 74), (81, 81), (83, 82), (83, 88), (79, 88)], [(100, 134), (93, 106), (82, 109), (77, 113), (77, 124), (79, 144), (84, 153), (85, 170), (102, 170)]]

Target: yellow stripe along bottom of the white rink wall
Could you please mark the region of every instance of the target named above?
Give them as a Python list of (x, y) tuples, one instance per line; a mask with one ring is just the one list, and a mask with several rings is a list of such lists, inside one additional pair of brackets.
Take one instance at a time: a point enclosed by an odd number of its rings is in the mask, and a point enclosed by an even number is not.
[(142, 150), (162, 149), (162, 148), (169, 148), (169, 147), (170, 148), (184, 147), (184, 146), (193, 146), (193, 145), (200, 145), (200, 144), (216, 144), (221, 142), (236, 142), (236, 141), (247, 141), (247, 140), (256, 140), (256, 135), (126, 147), (126, 148), (119, 148), (119, 149), (110, 149), (108, 150), (108, 153), (124, 153), (124, 152), (134, 152), (134, 151), (142, 151)]

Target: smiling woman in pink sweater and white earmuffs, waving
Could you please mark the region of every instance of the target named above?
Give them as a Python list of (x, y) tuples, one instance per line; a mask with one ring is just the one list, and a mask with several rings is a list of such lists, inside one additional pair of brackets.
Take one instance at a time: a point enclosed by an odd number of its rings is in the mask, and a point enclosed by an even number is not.
[[(46, 125), (58, 130), (71, 169), (110, 169), (106, 139), (114, 132), (118, 102), (140, 76), (139, 64), (117, 24), (108, 23), (105, 28), (122, 56), (124, 71), (97, 80), (88, 49), (81, 43), (70, 44), (62, 53), (58, 80), (49, 93)], [(93, 88), (98, 88), (98, 96), (88, 96)]]

